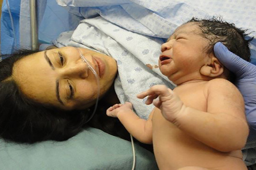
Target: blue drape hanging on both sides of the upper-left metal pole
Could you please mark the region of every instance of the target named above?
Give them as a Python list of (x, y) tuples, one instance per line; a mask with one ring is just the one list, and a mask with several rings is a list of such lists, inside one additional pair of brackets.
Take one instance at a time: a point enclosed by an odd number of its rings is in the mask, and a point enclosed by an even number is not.
[[(74, 30), (83, 17), (69, 13), (54, 0), (37, 0), (38, 38), (40, 43), (51, 43), (60, 33)], [(9, 54), (14, 48), (30, 48), (29, 0), (9, 0), (17, 44), (5, 0), (1, 15), (1, 53)]]

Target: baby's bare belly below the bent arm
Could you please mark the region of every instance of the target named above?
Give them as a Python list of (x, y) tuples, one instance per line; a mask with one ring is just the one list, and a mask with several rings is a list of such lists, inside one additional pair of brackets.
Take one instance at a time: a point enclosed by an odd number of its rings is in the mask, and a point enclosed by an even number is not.
[(153, 144), (156, 161), (161, 170), (176, 170), (184, 166), (223, 170), (230, 169), (231, 165), (240, 166), (238, 170), (245, 167), (241, 151), (219, 152), (189, 137), (170, 122), (157, 124), (159, 125), (153, 125)]

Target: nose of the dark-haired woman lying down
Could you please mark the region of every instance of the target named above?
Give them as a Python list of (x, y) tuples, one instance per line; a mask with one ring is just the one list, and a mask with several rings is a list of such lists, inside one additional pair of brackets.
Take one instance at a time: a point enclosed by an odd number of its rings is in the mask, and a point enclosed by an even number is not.
[(74, 76), (79, 78), (88, 77), (89, 66), (87, 63), (80, 61), (79, 63), (74, 63), (65, 70), (66, 76)]

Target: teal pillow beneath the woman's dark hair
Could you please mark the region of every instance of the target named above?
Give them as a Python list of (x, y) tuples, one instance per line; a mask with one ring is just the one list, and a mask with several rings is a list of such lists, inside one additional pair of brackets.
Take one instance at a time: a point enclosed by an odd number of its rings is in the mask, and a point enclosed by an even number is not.
[[(135, 144), (136, 169), (158, 169), (154, 155)], [(0, 140), (0, 169), (132, 169), (131, 142), (87, 128), (64, 142), (16, 144)]]

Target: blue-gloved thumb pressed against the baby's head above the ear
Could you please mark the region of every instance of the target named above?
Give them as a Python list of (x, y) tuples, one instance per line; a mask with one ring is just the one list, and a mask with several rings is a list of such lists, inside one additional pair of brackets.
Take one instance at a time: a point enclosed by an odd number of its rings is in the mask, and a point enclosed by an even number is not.
[(256, 66), (245, 61), (234, 53), (230, 52), (228, 48), (221, 42), (214, 45), (214, 54), (220, 62), (230, 71), (236, 74), (237, 77), (246, 77), (255, 73)]

